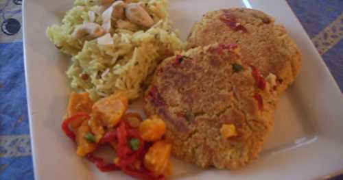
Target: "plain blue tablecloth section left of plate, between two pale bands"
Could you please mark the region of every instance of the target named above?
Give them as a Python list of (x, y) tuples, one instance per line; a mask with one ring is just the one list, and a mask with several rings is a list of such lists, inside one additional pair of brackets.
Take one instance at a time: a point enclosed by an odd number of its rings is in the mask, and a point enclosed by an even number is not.
[(28, 134), (23, 43), (0, 44), (0, 136)]

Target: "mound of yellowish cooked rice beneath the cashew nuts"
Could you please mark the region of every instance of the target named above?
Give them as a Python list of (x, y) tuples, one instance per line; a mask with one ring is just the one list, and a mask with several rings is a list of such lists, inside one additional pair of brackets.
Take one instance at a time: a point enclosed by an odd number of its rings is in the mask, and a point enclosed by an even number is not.
[[(126, 29), (110, 33), (113, 44), (101, 45), (97, 39), (74, 38), (75, 26), (84, 22), (102, 25), (97, 13), (99, 2), (76, 0), (61, 25), (51, 25), (47, 36), (63, 53), (71, 55), (72, 64), (67, 70), (71, 87), (86, 91), (93, 99), (106, 97), (123, 90), (130, 99), (136, 99), (141, 86), (156, 65), (174, 51), (181, 51), (184, 44), (171, 31), (165, 0), (140, 0), (153, 17), (154, 25), (148, 29), (124, 21)], [(138, 1), (134, 1), (138, 2)], [(95, 12), (95, 13), (93, 13)], [(94, 16), (95, 15), (95, 16)]]

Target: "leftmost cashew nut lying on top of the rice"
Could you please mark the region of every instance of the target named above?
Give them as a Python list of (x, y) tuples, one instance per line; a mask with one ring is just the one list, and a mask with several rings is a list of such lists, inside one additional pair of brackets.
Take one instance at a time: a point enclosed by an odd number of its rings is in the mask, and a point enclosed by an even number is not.
[(96, 23), (84, 23), (78, 25), (71, 34), (74, 38), (98, 38), (104, 35), (105, 31), (102, 27)]

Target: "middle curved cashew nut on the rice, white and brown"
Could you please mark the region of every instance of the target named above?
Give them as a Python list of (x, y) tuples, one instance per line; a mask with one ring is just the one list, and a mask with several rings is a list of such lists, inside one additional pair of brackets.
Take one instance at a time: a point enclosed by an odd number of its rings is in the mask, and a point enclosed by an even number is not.
[(102, 13), (102, 27), (106, 32), (110, 31), (111, 21), (117, 21), (118, 19), (124, 18), (124, 7), (123, 1), (115, 1), (110, 7)]

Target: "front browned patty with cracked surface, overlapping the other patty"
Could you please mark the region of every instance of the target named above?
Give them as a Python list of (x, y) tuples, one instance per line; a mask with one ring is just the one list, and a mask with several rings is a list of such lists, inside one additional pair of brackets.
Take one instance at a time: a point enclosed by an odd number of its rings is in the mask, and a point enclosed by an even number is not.
[(257, 157), (273, 126), (272, 86), (241, 63), (236, 44), (211, 44), (164, 60), (144, 108), (165, 120), (176, 157), (202, 168), (239, 168)]

